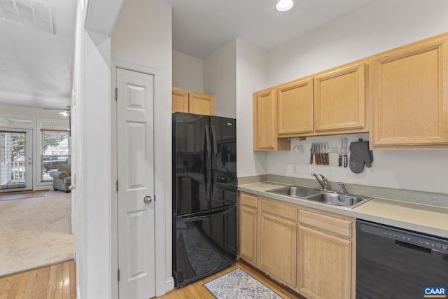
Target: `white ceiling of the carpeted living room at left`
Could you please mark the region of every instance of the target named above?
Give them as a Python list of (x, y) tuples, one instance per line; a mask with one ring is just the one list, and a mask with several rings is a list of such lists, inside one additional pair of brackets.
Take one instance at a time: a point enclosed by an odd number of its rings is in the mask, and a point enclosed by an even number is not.
[(1, 20), (4, 6), (0, 11), (0, 104), (64, 109), (71, 99), (76, 0), (38, 2), (52, 6), (55, 34)]

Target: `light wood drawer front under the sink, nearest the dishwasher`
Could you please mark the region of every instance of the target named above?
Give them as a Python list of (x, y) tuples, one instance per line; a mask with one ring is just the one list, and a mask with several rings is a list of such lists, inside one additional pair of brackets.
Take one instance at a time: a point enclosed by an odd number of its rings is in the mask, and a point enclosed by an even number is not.
[(323, 214), (314, 213), (312, 211), (299, 211), (300, 225), (305, 225), (310, 228), (316, 228), (324, 232), (329, 232), (332, 235), (337, 235), (345, 239), (351, 239), (351, 221), (335, 218), (332, 216), (326, 216)]

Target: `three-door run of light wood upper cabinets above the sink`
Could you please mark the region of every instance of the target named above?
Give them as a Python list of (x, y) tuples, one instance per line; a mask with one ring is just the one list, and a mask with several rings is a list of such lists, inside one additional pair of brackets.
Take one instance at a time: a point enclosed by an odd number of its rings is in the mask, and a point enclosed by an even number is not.
[(255, 92), (253, 150), (290, 150), (289, 137), (368, 132), (365, 69), (362, 60)]

